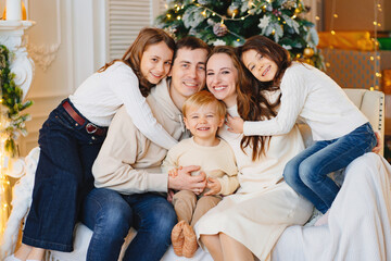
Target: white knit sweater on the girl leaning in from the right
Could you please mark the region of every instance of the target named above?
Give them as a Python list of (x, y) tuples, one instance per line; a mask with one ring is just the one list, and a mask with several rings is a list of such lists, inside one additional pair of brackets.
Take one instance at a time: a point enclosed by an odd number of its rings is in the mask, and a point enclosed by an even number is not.
[(244, 135), (287, 134), (301, 117), (310, 125), (314, 140), (330, 140), (368, 122), (336, 82), (311, 65), (293, 62), (282, 76), (280, 90), (277, 116), (244, 122)]

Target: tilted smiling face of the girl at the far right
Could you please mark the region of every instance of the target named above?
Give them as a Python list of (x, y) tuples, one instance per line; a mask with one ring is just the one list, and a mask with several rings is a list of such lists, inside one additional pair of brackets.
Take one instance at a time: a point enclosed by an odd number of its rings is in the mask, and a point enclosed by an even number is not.
[(278, 66), (274, 61), (253, 49), (243, 52), (241, 58), (244, 66), (260, 82), (274, 80), (278, 71)]

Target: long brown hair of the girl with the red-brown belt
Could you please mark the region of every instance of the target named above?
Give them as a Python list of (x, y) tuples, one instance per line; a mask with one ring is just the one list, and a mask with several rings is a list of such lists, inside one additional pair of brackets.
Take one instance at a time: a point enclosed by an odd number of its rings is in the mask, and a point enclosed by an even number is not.
[(163, 29), (146, 27), (140, 30), (135, 41), (125, 52), (122, 59), (115, 59), (110, 63), (106, 63), (104, 66), (98, 70), (98, 72), (105, 71), (116, 61), (122, 61), (128, 66), (131, 67), (137, 78), (139, 79), (139, 88), (142, 96), (147, 97), (151, 90), (153, 84), (149, 83), (147, 78), (142, 75), (140, 70), (142, 53), (147, 50), (150, 45), (155, 45), (161, 41), (164, 41), (169, 49), (175, 51), (175, 40)]

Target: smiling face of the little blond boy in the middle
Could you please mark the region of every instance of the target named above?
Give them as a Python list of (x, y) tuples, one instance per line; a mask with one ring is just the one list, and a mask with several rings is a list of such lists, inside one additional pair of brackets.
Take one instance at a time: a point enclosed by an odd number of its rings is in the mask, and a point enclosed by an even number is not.
[(224, 124), (224, 116), (218, 115), (216, 103), (190, 107), (184, 119), (186, 127), (195, 139), (214, 139), (218, 127)]

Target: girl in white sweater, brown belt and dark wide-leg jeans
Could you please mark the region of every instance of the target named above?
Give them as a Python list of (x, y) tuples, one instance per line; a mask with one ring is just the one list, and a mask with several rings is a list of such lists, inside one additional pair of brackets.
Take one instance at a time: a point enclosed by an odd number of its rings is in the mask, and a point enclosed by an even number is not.
[(105, 64), (54, 109), (40, 129), (40, 157), (23, 246), (10, 260), (42, 260), (45, 249), (70, 252), (91, 166), (122, 105), (139, 130), (169, 149), (177, 141), (154, 119), (146, 97), (169, 72), (175, 41), (142, 29), (122, 59)]

